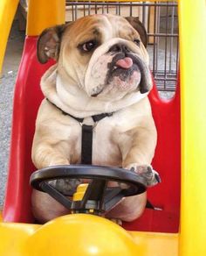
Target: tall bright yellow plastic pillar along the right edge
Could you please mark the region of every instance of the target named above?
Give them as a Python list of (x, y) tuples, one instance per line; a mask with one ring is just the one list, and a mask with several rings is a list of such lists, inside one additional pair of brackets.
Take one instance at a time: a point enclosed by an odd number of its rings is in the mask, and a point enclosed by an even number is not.
[(206, 1), (179, 2), (182, 207), (180, 255), (206, 255)]

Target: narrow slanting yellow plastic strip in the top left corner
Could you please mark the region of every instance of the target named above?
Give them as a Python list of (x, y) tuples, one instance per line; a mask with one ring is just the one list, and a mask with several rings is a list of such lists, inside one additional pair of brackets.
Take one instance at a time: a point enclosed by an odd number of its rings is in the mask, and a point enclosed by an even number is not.
[(17, 0), (0, 1), (0, 74), (2, 70), (6, 44), (10, 34), (10, 27), (17, 11), (18, 2), (19, 1)]

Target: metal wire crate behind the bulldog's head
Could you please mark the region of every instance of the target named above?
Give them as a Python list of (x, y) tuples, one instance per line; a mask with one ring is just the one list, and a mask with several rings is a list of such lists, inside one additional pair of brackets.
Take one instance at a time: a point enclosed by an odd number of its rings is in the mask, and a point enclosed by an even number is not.
[(66, 1), (66, 21), (98, 13), (140, 18), (148, 31), (150, 68), (157, 88), (174, 91), (179, 63), (177, 4)]

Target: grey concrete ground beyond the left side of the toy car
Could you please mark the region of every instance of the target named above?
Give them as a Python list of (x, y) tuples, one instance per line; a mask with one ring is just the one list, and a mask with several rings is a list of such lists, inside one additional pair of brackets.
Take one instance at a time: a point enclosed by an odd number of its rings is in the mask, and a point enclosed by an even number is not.
[[(3, 72), (0, 77), (0, 206), (3, 204), (7, 179), (13, 89), (23, 46), (24, 32), (19, 32), (18, 23), (15, 21), (10, 32), (10, 39), (3, 62)], [(149, 49), (149, 53), (152, 54), (151, 49)], [(171, 96), (171, 93), (163, 92), (161, 96), (168, 98)]]

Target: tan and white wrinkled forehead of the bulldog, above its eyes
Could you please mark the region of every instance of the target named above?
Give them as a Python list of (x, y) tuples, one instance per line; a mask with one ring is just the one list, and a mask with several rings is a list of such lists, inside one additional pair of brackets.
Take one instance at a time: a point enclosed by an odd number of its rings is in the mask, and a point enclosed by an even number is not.
[(79, 18), (69, 29), (70, 38), (78, 42), (91, 38), (99, 38), (102, 41), (115, 37), (129, 39), (137, 34), (125, 18), (109, 14), (95, 14)]

